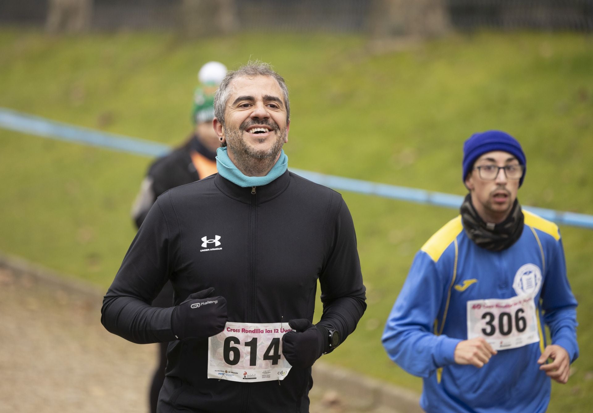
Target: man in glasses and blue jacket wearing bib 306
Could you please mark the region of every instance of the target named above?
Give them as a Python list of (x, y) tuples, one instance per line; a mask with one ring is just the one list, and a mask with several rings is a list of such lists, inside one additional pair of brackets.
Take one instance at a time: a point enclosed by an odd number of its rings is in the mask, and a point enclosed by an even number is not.
[(560, 231), (517, 201), (527, 159), (515, 138), (474, 134), (463, 152), (461, 215), (416, 254), (383, 345), (424, 379), (425, 411), (544, 412), (550, 377), (566, 383), (579, 355)]

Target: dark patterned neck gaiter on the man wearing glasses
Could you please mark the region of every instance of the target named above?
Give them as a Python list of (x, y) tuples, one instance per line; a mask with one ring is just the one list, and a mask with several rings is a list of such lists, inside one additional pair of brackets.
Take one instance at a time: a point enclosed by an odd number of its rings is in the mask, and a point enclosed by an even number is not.
[(485, 223), (471, 204), (471, 195), (467, 194), (461, 204), (461, 221), (470, 240), (477, 246), (490, 251), (502, 251), (514, 244), (523, 233), (523, 211), (519, 201), (511, 208), (511, 213), (502, 223)]

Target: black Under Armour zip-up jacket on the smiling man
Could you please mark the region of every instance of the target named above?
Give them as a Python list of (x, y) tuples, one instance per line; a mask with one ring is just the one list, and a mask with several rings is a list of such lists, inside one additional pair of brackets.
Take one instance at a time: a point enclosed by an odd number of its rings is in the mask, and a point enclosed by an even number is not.
[[(214, 240), (202, 247), (203, 237)], [(158, 411), (308, 412), (311, 369), (282, 382), (206, 378), (207, 339), (176, 340), (173, 308), (151, 307), (171, 279), (175, 304), (215, 288), (231, 322), (313, 319), (343, 339), (366, 308), (352, 217), (342, 196), (286, 171), (241, 188), (219, 174), (162, 194), (151, 208), (103, 300), (101, 322), (136, 343), (171, 341)], [(280, 383), (280, 385), (279, 385)]]

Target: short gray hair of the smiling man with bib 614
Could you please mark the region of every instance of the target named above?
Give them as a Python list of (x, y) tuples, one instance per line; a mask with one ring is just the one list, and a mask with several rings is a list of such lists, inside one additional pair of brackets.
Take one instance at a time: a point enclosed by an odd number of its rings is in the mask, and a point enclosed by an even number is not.
[(247, 62), (237, 70), (229, 71), (227, 73), (214, 95), (214, 116), (216, 116), (216, 119), (224, 125), (224, 112), (227, 107), (227, 100), (230, 92), (228, 86), (231, 84), (232, 80), (242, 76), (269, 76), (276, 79), (284, 94), (284, 102), (286, 104), (286, 123), (288, 123), (291, 119), (291, 104), (288, 100), (288, 87), (286, 87), (286, 82), (282, 76), (272, 69), (272, 66), (260, 61)]

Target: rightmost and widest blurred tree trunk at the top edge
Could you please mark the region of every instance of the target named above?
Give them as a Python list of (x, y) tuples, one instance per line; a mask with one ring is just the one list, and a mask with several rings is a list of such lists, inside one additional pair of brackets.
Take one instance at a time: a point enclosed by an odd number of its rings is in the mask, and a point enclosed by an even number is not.
[(445, 0), (373, 0), (369, 28), (373, 37), (433, 37), (449, 31)]

